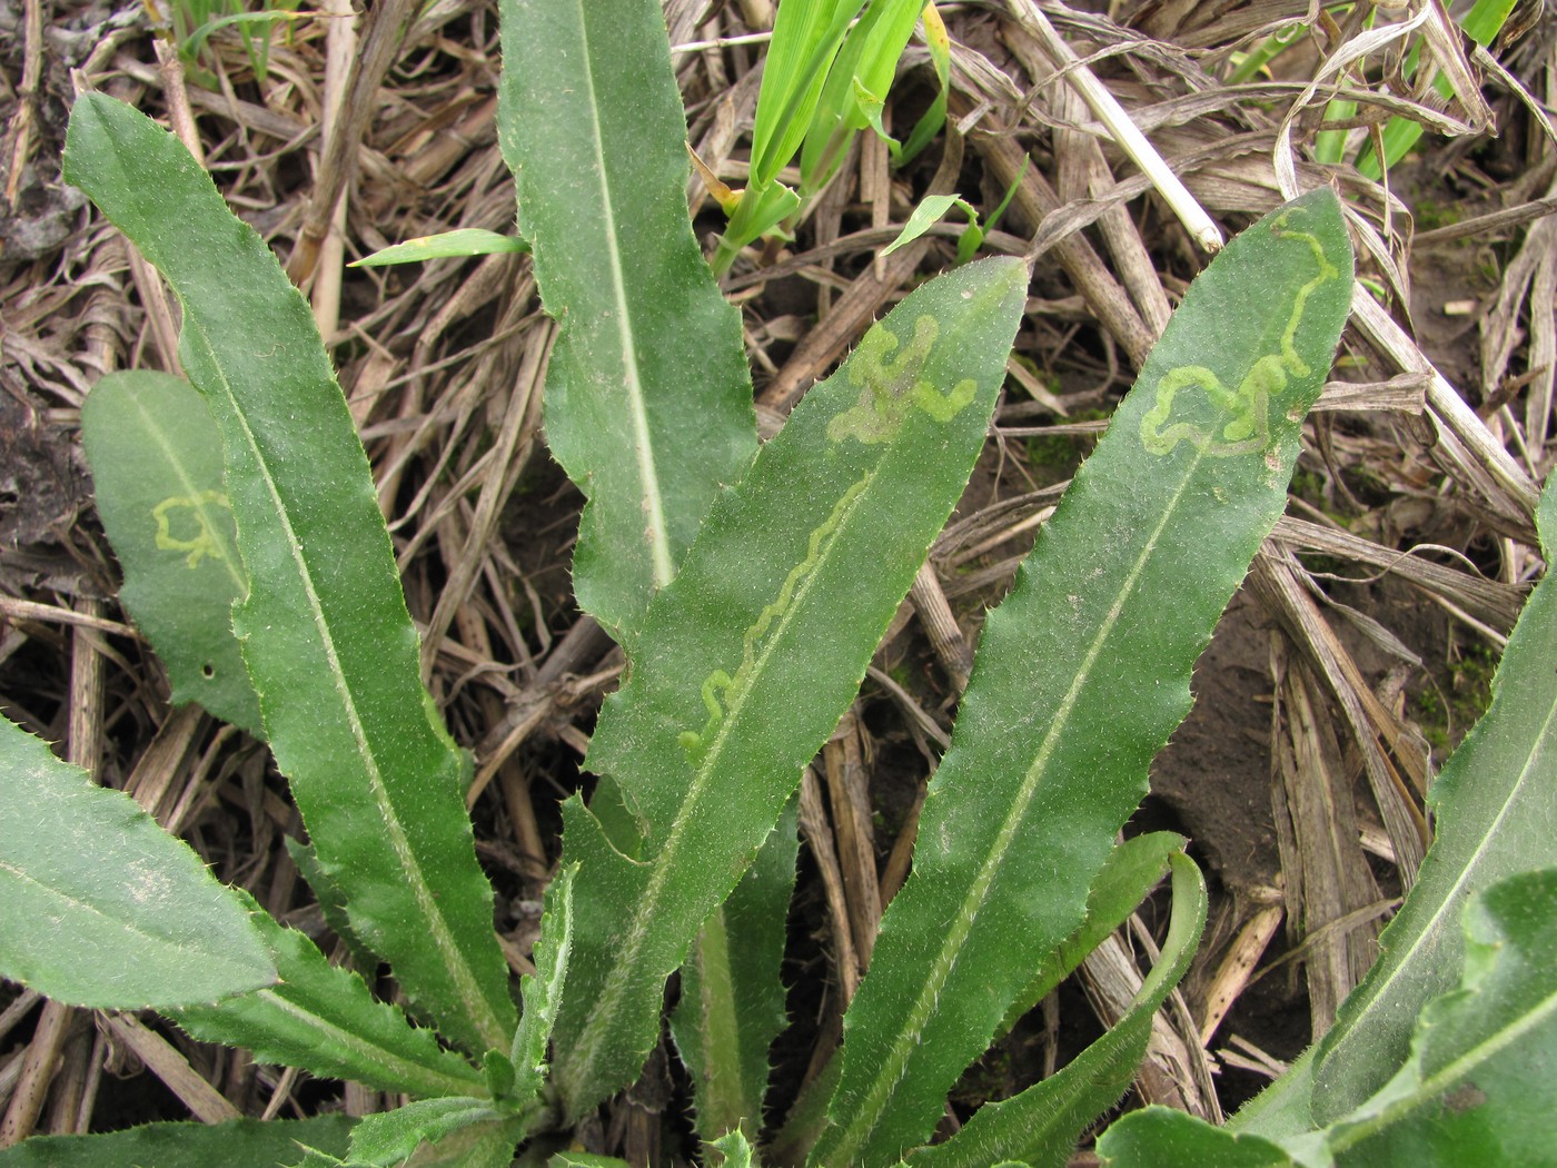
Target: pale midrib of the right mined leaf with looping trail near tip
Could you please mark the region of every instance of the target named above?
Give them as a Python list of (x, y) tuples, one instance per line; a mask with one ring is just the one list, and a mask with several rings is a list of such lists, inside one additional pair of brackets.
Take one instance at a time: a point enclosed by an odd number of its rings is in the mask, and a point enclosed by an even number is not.
[[(887, 1103), (897, 1093), (898, 1085), (903, 1081), (903, 1073), (908, 1067), (911, 1050), (917, 1047), (919, 1036), (923, 1033), (930, 1022), (930, 1015), (934, 1012), (934, 1004), (940, 997), (942, 989), (951, 976), (953, 969), (958, 964), (958, 956), (967, 936), (972, 933), (973, 920), (984, 906), (984, 900), (989, 894), (989, 888), (995, 880), (995, 869), (1004, 858), (1006, 850), (1010, 847), (1010, 841), (1015, 838), (1017, 830), (1028, 811), (1032, 797), (1037, 794), (1039, 783), (1046, 774), (1049, 757), (1057, 749), (1059, 738), (1065, 730), (1071, 713), (1074, 712), (1076, 701), (1085, 682), (1090, 681), (1091, 670), (1102, 654), (1104, 645), (1113, 634), (1115, 624), (1118, 624), (1119, 615), (1124, 610), (1126, 603), (1135, 590), (1141, 573), (1146, 568), (1146, 562), (1152, 558), (1157, 550), (1157, 544), (1162, 539), (1163, 531), (1172, 522), (1177, 514), (1179, 505), (1194, 480), (1194, 472), (1199, 467), (1204, 455), (1199, 452), (1190, 461), (1185, 469), (1183, 478), (1179, 483), (1179, 489), (1174, 492), (1168, 506), (1163, 511), (1163, 519), (1152, 531), (1146, 545), (1141, 548), (1140, 556), (1130, 567), (1130, 573), (1126, 576), (1124, 584), (1119, 587), (1118, 598), (1109, 609), (1109, 615), (1099, 626), (1093, 643), (1088, 646), (1085, 657), (1082, 659), (1081, 668), (1071, 679), (1071, 685), (1056, 710), (1054, 719), (1049, 723), (1048, 732), (1043, 737), (1039, 752), (1034, 755), (1032, 765), (1028, 768), (1023, 777), (1021, 788), (1017, 797), (1012, 800), (1010, 811), (1001, 822), (1000, 832), (995, 841), (979, 864), (978, 874), (973, 885), (968, 889), (968, 895), (964, 897), (962, 906), (956, 916), (956, 923), (947, 933), (947, 941), (942, 944), (940, 952), (931, 962), (931, 975), (925, 980), (925, 986), (920, 989), (919, 997), (914, 1001), (912, 1009), (908, 1014), (908, 1025), (898, 1033), (897, 1040), (892, 1043), (887, 1056), (880, 1062), (880, 1070), (870, 1079), (870, 1087), (864, 1093), (863, 1104), (855, 1110), (853, 1121), (844, 1129), (844, 1134), (838, 1138), (836, 1145), (830, 1149), (830, 1154), (841, 1156), (842, 1162), (853, 1160), (858, 1154), (861, 1145), (875, 1131), (880, 1115), (886, 1110)], [(839, 1151), (841, 1149), (841, 1151)]]

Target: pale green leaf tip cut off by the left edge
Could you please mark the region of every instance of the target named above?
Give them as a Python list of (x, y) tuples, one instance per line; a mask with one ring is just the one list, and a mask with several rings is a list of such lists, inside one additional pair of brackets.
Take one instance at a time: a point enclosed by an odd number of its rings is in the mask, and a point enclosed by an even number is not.
[(140, 1009), (268, 986), (276, 966), (184, 841), (0, 718), (0, 976)]

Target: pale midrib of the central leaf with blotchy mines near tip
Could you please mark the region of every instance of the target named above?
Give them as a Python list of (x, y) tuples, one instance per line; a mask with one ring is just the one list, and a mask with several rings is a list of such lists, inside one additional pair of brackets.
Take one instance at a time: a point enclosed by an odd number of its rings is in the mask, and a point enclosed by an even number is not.
[(822, 575), (822, 567), (831, 559), (833, 548), (838, 547), (839, 537), (849, 526), (849, 520), (859, 509), (861, 501), (870, 495), (870, 486), (875, 483), (880, 464), (881, 463), (878, 461), (875, 467), (866, 472), (866, 478), (869, 480), (867, 484), (855, 495), (852, 503), (845, 505), (838, 519), (838, 526), (833, 528), (833, 533), (827, 540), (825, 550), (822, 550), (816, 559), (816, 565), (796, 587), (789, 607), (780, 614), (772, 635), (752, 660), (750, 681), (740, 693), (730, 698), (729, 707), (724, 712), (724, 721), (719, 723), (713, 741), (708, 744), (708, 752), (704, 755), (702, 763), (693, 774), (693, 782), (687, 788), (687, 796), (682, 799), (682, 804), (676, 811), (676, 819), (671, 822), (671, 829), (665, 836), (665, 846), (654, 860), (654, 866), (649, 872), (649, 883), (645, 886), (643, 895), (638, 897), (637, 908), (632, 914), (626, 944), (623, 944), (618, 959), (612, 964), (610, 973), (606, 976), (606, 984), (601, 987), (599, 998), (596, 1000), (596, 1006), (590, 1011), (589, 1022), (579, 1034), (578, 1048), (584, 1050), (584, 1059), (581, 1064), (573, 1064), (573, 1067), (579, 1068), (570, 1075), (575, 1082), (589, 1082), (589, 1071), (595, 1065), (603, 1045), (609, 1040), (615, 1015), (621, 1009), (627, 989), (635, 978), (634, 966), (637, 966), (638, 952), (643, 948), (651, 933), (651, 922), (659, 911), (659, 900), (665, 892), (665, 881), (668, 880), (670, 872), (676, 867), (676, 857), (682, 849), (682, 841), (685, 839), (684, 829), (687, 818), (690, 810), (702, 799), (704, 791), (713, 782), (719, 755), (724, 752), (724, 744), (729, 741), (730, 727), (740, 719), (741, 710), (746, 707), (747, 696), (757, 688), (758, 679), (768, 668), (768, 660), (772, 657), (775, 646), (785, 640), (785, 632), (794, 621), (796, 614), (805, 607), (805, 598), (810, 595), (816, 579)]

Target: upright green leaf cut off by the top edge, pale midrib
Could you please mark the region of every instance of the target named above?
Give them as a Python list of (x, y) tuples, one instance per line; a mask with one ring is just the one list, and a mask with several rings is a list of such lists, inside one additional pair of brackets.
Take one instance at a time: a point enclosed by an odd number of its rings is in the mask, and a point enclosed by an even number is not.
[(740, 315), (687, 216), (655, 0), (504, 0), (498, 140), (559, 336), (547, 441), (589, 495), (579, 606), (631, 637), (757, 449)]

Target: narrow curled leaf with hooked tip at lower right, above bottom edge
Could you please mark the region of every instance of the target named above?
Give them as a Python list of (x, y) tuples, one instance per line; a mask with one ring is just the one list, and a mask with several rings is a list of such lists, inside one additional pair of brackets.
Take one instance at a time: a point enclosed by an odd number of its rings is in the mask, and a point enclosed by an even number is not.
[(1063, 1168), (1082, 1132), (1129, 1089), (1146, 1057), (1152, 1015), (1190, 970), (1200, 942), (1205, 881), (1183, 852), (1172, 852), (1169, 863), (1172, 923), (1157, 966), (1124, 1017), (1053, 1078), (1004, 1103), (986, 1103), (950, 1140), (912, 1152), (911, 1168), (981, 1168), (998, 1160)]

